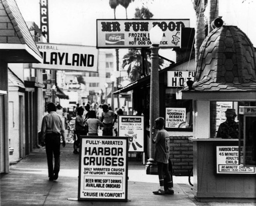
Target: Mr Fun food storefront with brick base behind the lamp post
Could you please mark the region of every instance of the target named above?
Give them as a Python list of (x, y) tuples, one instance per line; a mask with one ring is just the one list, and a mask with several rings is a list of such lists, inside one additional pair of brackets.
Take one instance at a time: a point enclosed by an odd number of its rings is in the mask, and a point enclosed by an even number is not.
[[(193, 104), (191, 100), (177, 100), (176, 90), (194, 80), (194, 59), (170, 64), (159, 71), (160, 117), (170, 135), (170, 157), (174, 175), (188, 175), (193, 167)], [(188, 69), (188, 70), (187, 70)], [(133, 110), (144, 116), (145, 161), (150, 156), (150, 76), (146, 76), (114, 92), (115, 95), (132, 90)]]

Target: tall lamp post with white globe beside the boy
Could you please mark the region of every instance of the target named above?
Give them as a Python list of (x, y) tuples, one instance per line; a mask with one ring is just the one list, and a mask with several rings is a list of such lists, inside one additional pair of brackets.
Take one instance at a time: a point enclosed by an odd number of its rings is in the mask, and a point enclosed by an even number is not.
[(159, 74), (158, 74), (158, 50), (163, 32), (158, 25), (150, 30), (151, 46), (151, 77), (150, 77), (150, 159), (153, 160), (155, 145), (152, 140), (156, 134), (153, 126), (155, 119), (159, 117)]

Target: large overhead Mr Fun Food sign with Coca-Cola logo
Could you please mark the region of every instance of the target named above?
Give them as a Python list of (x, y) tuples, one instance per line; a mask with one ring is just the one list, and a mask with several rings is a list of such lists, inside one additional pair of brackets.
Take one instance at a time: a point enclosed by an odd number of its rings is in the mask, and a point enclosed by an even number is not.
[(180, 47), (181, 28), (189, 27), (189, 19), (97, 19), (97, 48), (148, 48), (156, 25), (163, 31), (161, 48)]

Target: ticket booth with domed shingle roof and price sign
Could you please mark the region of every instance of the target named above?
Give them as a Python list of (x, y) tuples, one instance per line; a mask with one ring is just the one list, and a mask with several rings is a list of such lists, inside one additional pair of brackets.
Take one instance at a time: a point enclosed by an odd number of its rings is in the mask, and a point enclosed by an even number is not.
[[(256, 106), (254, 53), (250, 40), (237, 27), (216, 28), (201, 46), (195, 82), (176, 93), (177, 99), (193, 100), (193, 138), (189, 140), (193, 141), (193, 193), (198, 201), (256, 199), (256, 172), (251, 164), (255, 129), (248, 129), (255, 128), (256, 117), (241, 110)], [(228, 139), (217, 138), (227, 108), (234, 111), (241, 131)], [(241, 135), (246, 136), (243, 164), (239, 161)]]

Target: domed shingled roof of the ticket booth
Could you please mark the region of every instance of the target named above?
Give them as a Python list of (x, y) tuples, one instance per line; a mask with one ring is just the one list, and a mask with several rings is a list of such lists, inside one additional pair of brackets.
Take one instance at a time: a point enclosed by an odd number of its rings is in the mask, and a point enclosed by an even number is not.
[(254, 48), (236, 26), (212, 31), (200, 48), (195, 83), (181, 92), (256, 91)]

